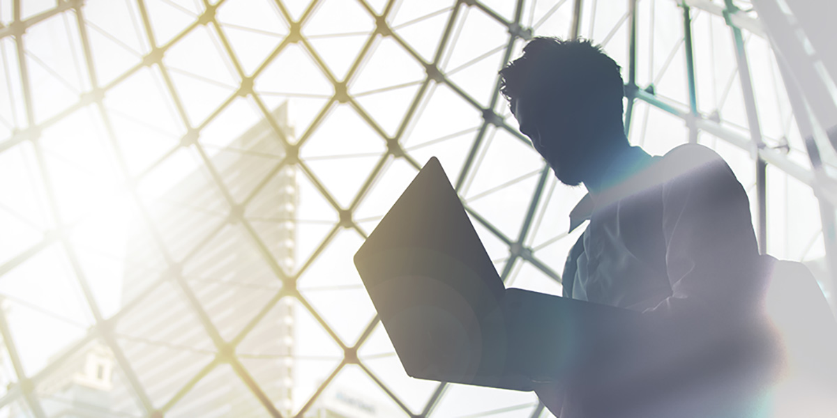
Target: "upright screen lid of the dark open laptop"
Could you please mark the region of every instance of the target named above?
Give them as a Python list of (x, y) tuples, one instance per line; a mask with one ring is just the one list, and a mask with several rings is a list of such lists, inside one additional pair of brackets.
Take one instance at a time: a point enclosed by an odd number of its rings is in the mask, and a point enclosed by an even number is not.
[(439, 160), (419, 171), (354, 261), (408, 375), (475, 383), (503, 374), (505, 288)]

